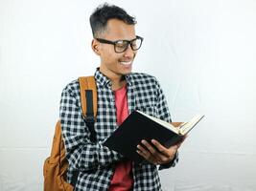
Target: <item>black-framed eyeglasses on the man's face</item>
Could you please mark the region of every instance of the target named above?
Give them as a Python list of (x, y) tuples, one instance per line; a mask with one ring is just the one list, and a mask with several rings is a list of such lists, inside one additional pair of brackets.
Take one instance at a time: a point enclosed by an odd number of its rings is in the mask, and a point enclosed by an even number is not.
[(128, 45), (130, 45), (130, 48), (132, 51), (137, 51), (140, 49), (143, 41), (143, 37), (136, 36), (136, 38), (132, 40), (116, 40), (116, 41), (110, 41), (105, 40), (103, 38), (96, 38), (101, 43), (105, 44), (111, 44), (114, 45), (115, 53), (124, 53), (128, 50)]

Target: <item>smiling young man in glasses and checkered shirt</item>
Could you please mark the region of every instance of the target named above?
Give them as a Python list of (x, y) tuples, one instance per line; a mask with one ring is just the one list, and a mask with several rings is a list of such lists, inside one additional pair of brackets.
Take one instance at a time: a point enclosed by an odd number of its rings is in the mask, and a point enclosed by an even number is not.
[[(133, 110), (171, 122), (168, 105), (156, 79), (149, 74), (131, 73), (133, 60), (142, 45), (134, 17), (123, 9), (104, 4), (90, 16), (94, 39), (92, 50), (100, 56), (95, 79), (98, 89), (98, 114), (94, 128), (97, 142), (81, 115), (78, 80), (62, 92), (60, 119), (69, 162), (68, 181), (79, 172), (76, 190), (161, 190), (157, 166), (175, 166), (181, 143), (165, 148), (156, 140), (142, 140), (137, 152), (148, 162), (138, 164), (109, 150), (103, 142)], [(143, 146), (142, 146), (143, 145)]]

